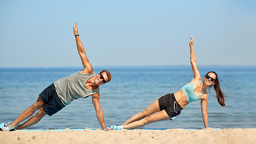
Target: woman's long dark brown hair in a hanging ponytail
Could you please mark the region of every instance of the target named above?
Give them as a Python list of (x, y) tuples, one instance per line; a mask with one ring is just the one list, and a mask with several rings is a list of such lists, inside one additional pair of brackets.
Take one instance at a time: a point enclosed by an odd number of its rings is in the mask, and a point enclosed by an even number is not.
[(218, 79), (217, 74), (214, 71), (210, 71), (208, 73), (214, 73), (216, 75), (215, 84), (211, 85), (210, 88), (214, 87), (214, 90), (216, 92), (216, 98), (217, 98), (218, 103), (220, 104), (220, 106), (226, 106), (225, 105), (225, 95), (224, 95), (224, 92), (222, 92), (222, 90), (220, 89), (220, 83), (219, 83), (219, 79)]

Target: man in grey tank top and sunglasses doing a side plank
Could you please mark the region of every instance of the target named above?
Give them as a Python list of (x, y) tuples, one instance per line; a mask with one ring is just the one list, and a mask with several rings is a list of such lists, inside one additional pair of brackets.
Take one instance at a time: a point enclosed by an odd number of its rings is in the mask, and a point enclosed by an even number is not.
[[(9, 122), (9, 124), (0, 128), (0, 130), (12, 131), (30, 127), (31, 125), (39, 122), (46, 114), (51, 116), (70, 104), (73, 100), (77, 98), (87, 98), (90, 95), (92, 96), (92, 103), (94, 104), (98, 122), (100, 122), (103, 130), (107, 130), (103, 112), (100, 107), (99, 87), (111, 80), (111, 74), (107, 70), (103, 70), (99, 74), (95, 74), (92, 70), (92, 65), (89, 63), (86, 56), (85, 48), (79, 38), (77, 23), (75, 23), (75, 27), (73, 27), (73, 29), (75, 41), (77, 43), (77, 50), (84, 69), (71, 74), (71, 76), (63, 77), (48, 86), (41, 94), (39, 94), (36, 103), (22, 112), (14, 122)], [(36, 110), (39, 110), (39, 112), (30, 118)], [(24, 124), (18, 125), (27, 118), (30, 119)]]

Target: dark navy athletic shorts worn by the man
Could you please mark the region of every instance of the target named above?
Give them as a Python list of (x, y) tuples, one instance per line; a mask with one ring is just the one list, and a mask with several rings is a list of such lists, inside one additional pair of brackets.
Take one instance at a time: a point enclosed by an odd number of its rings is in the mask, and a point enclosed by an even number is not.
[(57, 95), (54, 84), (51, 84), (43, 90), (41, 94), (39, 94), (39, 97), (42, 99), (43, 103), (45, 103), (43, 104), (43, 110), (47, 115), (51, 116), (65, 107)]

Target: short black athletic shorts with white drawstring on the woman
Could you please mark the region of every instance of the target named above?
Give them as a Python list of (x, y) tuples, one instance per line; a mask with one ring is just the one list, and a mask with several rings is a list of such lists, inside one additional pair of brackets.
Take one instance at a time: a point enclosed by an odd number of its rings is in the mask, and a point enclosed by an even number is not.
[(160, 110), (165, 110), (170, 118), (176, 117), (181, 113), (182, 107), (176, 101), (174, 94), (166, 94), (158, 98), (158, 103)]

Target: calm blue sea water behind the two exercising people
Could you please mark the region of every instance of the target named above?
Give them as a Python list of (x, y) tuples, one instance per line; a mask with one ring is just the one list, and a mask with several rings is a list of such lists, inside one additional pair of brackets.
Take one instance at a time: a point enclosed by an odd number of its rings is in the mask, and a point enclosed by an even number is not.
[[(226, 106), (222, 107), (217, 103), (214, 89), (208, 92), (209, 127), (256, 128), (256, 66), (198, 68), (202, 77), (208, 71), (216, 71), (226, 95)], [(0, 123), (13, 122), (37, 100), (43, 89), (81, 69), (0, 68)], [(94, 71), (99, 73), (103, 69), (112, 73), (111, 82), (100, 86), (106, 126), (123, 124), (162, 95), (179, 91), (193, 77), (190, 66), (95, 67)], [(74, 100), (60, 112), (46, 115), (27, 129), (65, 127), (101, 128), (91, 97)], [(155, 122), (143, 128), (204, 128), (200, 101), (188, 104), (173, 121)]]

